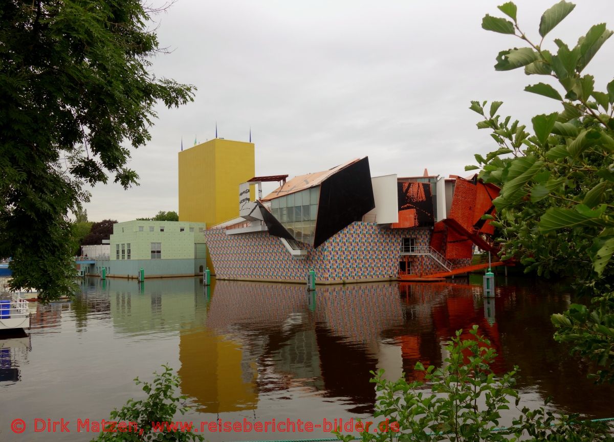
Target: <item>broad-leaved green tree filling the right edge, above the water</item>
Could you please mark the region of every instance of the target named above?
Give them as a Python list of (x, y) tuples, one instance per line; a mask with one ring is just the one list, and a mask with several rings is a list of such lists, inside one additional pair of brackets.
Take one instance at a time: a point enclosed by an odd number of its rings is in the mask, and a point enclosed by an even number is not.
[(556, 53), (546, 50), (546, 35), (574, 7), (562, 0), (546, 10), (538, 43), (521, 31), (512, 2), (499, 6), (511, 21), (484, 17), (484, 29), (528, 45), (500, 52), (495, 69), (524, 68), (527, 75), (557, 80), (524, 90), (560, 101), (562, 111), (535, 115), (529, 133), (518, 120), (497, 115), (500, 101), (489, 107), (473, 101), (470, 109), (484, 118), (478, 128), (491, 130), (499, 148), (485, 158), (475, 155), (480, 166), (465, 169), (481, 167), (481, 179), (502, 187), (492, 224), (505, 246), (503, 259), (516, 257), (527, 271), (546, 276), (574, 276), (578, 289), (596, 296), (589, 308), (573, 304), (554, 315), (555, 337), (597, 362), (597, 381), (614, 382), (614, 80), (598, 91), (593, 76), (583, 74), (612, 31), (594, 25), (575, 46), (555, 39)]

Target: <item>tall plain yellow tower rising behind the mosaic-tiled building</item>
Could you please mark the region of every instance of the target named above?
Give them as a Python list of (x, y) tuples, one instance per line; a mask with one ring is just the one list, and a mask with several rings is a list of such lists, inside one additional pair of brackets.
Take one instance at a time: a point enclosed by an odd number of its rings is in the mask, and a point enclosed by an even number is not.
[(239, 184), (254, 176), (251, 142), (216, 138), (179, 152), (179, 220), (209, 228), (238, 217)]

